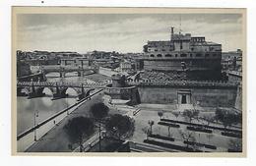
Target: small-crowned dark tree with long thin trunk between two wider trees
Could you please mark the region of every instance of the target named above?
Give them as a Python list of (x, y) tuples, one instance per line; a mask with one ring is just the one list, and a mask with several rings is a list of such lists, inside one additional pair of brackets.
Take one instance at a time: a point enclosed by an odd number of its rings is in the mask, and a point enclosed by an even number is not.
[(104, 103), (96, 103), (91, 107), (90, 112), (98, 122), (98, 148), (101, 151), (101, 123), (109, 112), (109, 108)]

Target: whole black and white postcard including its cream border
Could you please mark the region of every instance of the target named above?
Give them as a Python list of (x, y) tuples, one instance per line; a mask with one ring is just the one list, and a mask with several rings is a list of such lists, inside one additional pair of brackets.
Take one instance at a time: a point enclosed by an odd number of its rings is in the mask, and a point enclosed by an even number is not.
[(14, 153), (246, 152), (245, 9), (12, 10)]

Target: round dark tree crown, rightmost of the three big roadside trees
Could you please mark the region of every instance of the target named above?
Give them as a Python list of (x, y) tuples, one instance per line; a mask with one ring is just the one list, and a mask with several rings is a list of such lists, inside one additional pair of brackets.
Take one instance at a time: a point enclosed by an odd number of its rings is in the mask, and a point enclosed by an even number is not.
[(130, 138), (135, 129), (134, 120), (126, 115), (114, 114), (106, 121), (105, 129), (111, 138)]

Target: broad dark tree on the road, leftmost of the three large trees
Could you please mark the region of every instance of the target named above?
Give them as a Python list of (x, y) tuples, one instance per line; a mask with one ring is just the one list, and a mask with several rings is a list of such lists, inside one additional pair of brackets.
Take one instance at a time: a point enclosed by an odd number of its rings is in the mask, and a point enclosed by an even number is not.
[(87, 117), (76, 117), (68, 121), (64, 126), (64, 131), (68, 135), (71, 143), (78, 143), (80, 151), (83, 151), (83, 140), (91, 136), (95, 131), (95, 124)]

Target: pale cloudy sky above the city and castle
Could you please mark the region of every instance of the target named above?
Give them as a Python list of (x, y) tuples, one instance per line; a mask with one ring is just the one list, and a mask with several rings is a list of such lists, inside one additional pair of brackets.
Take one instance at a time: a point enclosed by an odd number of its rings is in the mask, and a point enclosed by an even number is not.
[(242, 46), (239, 14), (19, 14), (16, 25), (23, 51), (142, 52), (149, 40), (169, 40), (170, 27), (206, 36), (223, 51)]

